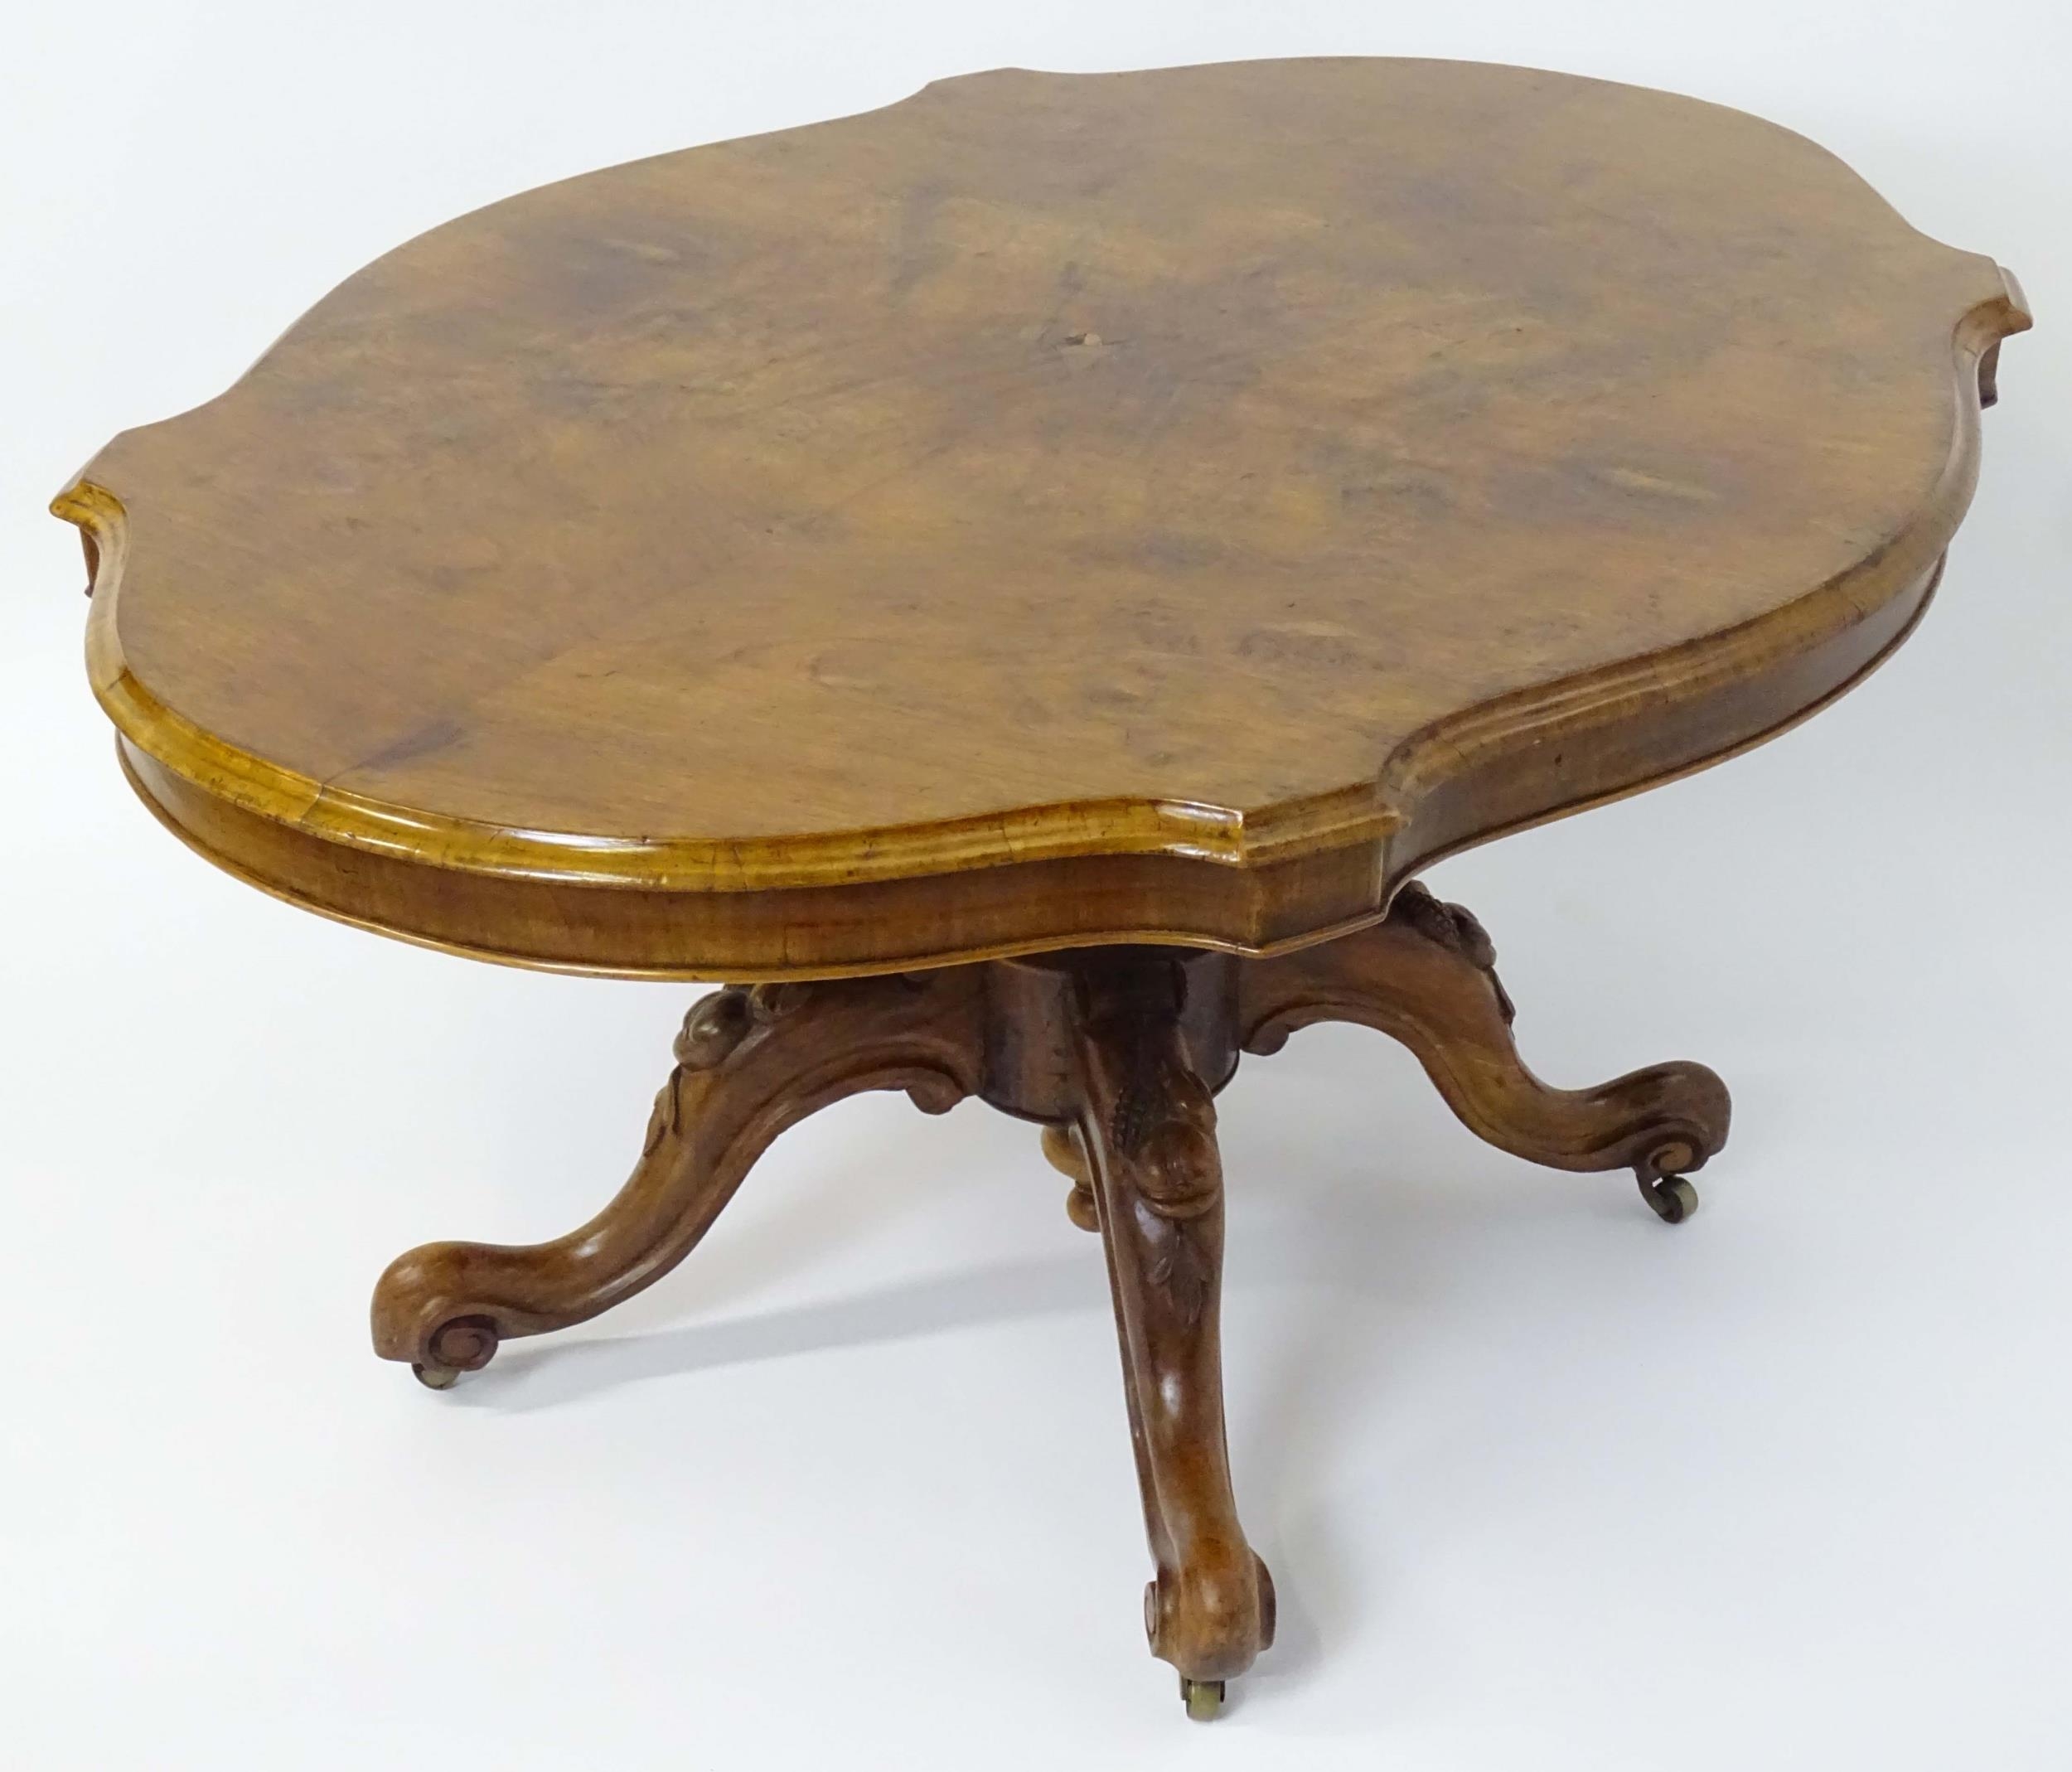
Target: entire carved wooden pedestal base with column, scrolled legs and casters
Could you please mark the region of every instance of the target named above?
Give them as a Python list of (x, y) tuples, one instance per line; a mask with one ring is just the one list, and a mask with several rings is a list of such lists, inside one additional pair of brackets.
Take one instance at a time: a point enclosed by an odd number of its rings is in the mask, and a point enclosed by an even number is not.
[(1106, 1250), (1129, 1438), (1154, 1575), (1144, 1627), (1191, 1716), (1274, 1637), (1274, 1585), (1245, 1542), (1222, 1430), (1222, 1165), (1214, 1094), (1239, 1053), (1312, 1022), (1361, 1022), (1423, 1063), (1471, 1132), (1558, 1169), (1633, 1169), (1668, 1223), (1726, 1142), (1703, 1065), (1600, 1088), (1542, 1084), (1510, 1038), (1481, 924), (1409, 885), (1382, 922), (1278, 960), (1094, 947), (937, 972), (725, 989), (675, 1042), (632, 1177), (549, 1244), (427, 1244), (375, 1287), (375, 1351), (433, 1387), (497, 1343), (597, 1316), (704, 1235), (762, 1148), (845, 1094), (905, 1090), (943, 1113), (980, 1096), (1038, 1121), (1067, 1212)]

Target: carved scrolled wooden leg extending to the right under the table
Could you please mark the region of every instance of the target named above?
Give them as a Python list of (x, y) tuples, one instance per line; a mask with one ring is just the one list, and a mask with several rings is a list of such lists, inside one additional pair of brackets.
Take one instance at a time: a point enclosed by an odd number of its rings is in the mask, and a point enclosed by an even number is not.
[(1653, 1065), (1598, 1088), (1548, 1088), (1510, 1038), (1510, 999), (1481, 924), (1415, 881), (1388, 916), (1239, 972), (1243, 1045), (1278, 1051), (1312, 1022), (1394, 1034), (1448, 1107), (1490, 1144), (1554, 1169), (1627, 1169), (1668, 1223), (1697, 1206), (1685, 1179), (1726, 1142), (1728, 1096), (1705, 1065)]

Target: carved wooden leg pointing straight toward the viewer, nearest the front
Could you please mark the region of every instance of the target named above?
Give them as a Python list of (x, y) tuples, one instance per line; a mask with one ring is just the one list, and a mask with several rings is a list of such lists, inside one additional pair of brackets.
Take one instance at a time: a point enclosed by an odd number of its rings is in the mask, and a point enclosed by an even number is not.
[(1096, 960), (1080, 972), (1075, 1154), (1098, 1202), (1158, 1571), (1144, 1623), (1152, 1654), (1179, 1668), (1189, 1714), (1210, 1716), (1222, 1681), (1272, 1641), (1274, 1594), (1231, 1496), (1222, 1169), (1216, 1109), (1181, 1034), (1183, 991), (1181, 968), (1158, 955)]

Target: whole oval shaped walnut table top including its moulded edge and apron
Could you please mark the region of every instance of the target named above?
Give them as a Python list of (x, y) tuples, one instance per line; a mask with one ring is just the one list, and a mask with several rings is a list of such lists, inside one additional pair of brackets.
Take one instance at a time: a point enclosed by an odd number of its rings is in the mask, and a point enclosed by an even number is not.
[(56, 510), (139, 792), (334, 916), (1270, 951), (1869, 669), (2026, 323), (1687, 97), (1001, 70), (435, 228)]

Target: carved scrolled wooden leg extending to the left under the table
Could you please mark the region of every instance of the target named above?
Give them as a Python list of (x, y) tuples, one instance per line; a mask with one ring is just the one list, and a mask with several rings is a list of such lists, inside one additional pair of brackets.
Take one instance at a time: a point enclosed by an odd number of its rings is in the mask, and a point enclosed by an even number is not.
[(425, 1244), (398, 1256), (375, 1285), (375, 1351), (443, 1389), (508, 1337), (609, 1310), (696, 1248), (794, 1121), (860, 1090), (903, 1088), (928, 1113), (972, 1094), (978, 1024), (970, 968), (702, 999), (678, 1034), (640, 1163), (611, 1204), (547, 1244)]

